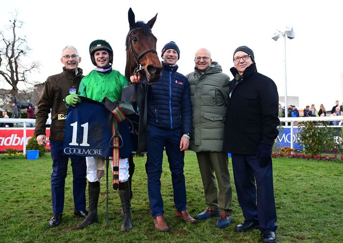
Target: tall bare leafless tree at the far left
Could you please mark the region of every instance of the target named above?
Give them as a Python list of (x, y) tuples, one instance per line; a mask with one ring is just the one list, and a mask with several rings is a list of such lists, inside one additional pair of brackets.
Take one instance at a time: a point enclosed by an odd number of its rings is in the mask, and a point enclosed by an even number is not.
[(2, 44), (0, 44), (0, 81), (6, 81), (12, 86), (10, 94), (18, 94), (18, 83), (33, 84), (27, 81), (27, 74), (38, 69), (38, 62), (25, 64), (23, 57), (26, 56), (31, 49), (27, 45), (26, 37), (17, 36), (17, 32), (23, 27), (24, 23), (17, 19), (17, 14), (10, 20), (10, 25), (7, 30), (11, 34), (6, 36), (5, 31), (0, 31)]

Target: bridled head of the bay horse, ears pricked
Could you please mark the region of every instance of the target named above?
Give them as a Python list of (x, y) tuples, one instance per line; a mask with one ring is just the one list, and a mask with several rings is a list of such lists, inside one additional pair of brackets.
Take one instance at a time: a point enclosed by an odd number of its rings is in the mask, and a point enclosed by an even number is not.
[(162, 64), (156, 52), (157, 38), (151, 32), (156, 18), (157, 14), (147, 24), (142, 21), (136, 23), (135, 14), (131, 8), (129, 9), (130, 31), (126, 36), (126, 77), (134, 72), (143, 71), (149, 82), (161, 78)]

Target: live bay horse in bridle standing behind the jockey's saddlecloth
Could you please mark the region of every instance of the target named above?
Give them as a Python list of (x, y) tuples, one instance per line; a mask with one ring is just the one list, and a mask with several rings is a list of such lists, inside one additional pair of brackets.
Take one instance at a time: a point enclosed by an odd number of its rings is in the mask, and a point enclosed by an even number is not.
[[(147, 24), (135, 21), (132, 9), (128, 10), (129, 32), (126, 36), (126, 66), (125, 76), (130, 79), (133, 74), (141, 73), (146, 81), (130, 84), (122, 91), (122, 101), (132, 102), (136, 114), (127, 115), (132, 121), (132, 137), (136, 154), (146, 152), (147, 128), (147, 83), (158, 81), (162, 75), (162, 63), (156, 52), (157, 38), (152, 34), (151, 28), (155, 24), (157, 14)], [(145, 79), (144, 79), (145, 80)], [(139, 115), (139, 116), (138, 116)], [(136, 147), (137, 146), (137, 147)], [(132, 176), (135, 170), (133, 154), (129, 157), (129, 184), (132, 197)]]

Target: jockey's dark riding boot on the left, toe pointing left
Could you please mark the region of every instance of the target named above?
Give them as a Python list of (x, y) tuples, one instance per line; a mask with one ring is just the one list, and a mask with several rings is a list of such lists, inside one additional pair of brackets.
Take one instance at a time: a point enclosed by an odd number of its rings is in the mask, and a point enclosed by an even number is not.
[(76, 228), (83, 229), (86, 226), (98, 221), (98, 199), (100, 193), (100, 182), (88, 183), (88, 204), (89, 213), (88, 216), (80, 222)]

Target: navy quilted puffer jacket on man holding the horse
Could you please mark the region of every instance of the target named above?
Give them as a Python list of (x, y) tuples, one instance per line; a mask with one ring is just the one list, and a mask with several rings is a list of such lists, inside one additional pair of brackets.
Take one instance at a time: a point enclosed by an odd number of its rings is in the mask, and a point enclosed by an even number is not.
[(165, 130), (182, 128), (183, 134), (191, 133), (192, 105), (188, 80), (176, 72), (177, 65), (162, 64), (161, 79), (148, 88), (148, 123)]

